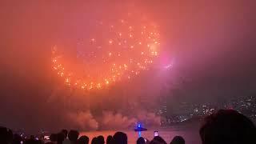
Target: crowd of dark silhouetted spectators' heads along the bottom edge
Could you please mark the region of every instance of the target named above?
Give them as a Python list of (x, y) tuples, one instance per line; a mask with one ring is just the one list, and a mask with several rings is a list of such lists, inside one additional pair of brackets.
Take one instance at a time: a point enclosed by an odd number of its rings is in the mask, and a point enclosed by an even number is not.
[[(256, 144), (256, 128), (254, 122), (235, 110), (218, 110), (204, 118), (199, 130), (202, 144)], [(89, 144), (90, 139), (86, 135), (79, 137), (77, 130), (62, 130), (58, 134), (50, 134), (49, 142), (43, 138), (22, 138), (19, 134), (13, 134), (12, 130), (0, 127), (0, 144)], [(104, 138), (102, 135), (91, 139), (91, 144), (127, 144), (127, 135), (116, 132), (113, 136)], [(156, 136), (152, 140), (138, 138), (137, 144), (167, 144), (161, 137)], [(169, 142), (168, 142), (169, 143)], [(185, 144), (182, 136), (175, 136), (170, 144)]]

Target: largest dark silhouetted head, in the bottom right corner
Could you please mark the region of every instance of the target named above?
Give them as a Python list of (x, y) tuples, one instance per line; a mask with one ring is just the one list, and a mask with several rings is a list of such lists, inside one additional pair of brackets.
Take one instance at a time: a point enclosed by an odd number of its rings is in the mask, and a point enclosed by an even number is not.
[(205, 118), (200, 137), (202, 144), (256, 143), (256, 128), (235, 110), (218, 110)]

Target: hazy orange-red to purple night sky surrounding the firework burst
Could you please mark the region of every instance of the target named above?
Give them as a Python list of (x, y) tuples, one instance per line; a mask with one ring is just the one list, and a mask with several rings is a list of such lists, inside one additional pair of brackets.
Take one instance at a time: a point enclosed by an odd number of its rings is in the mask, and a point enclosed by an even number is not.
[[(59, 124), (60, 119), (65, 121), (61, 115), (81, 110), (74, 104), (67, 106), (65, 98), (58, 99), (69, 89), (59, 86), (61, 80), (51, 70), (51, 48), (56, 42), (76, 43), (88, 32), (86, 23), (111, 18), (120, 10), (139, 10), (158, 23), (162, 52), (174, 66), (164, 74), (150, 70), (133, 82), (116, 84), (120, 86), (110, 87), (98, 98), (123, 94), (150, 102), (151, 96), (142, 95), (151, 94), (168, 96), (169, 101), (222, 102), (255, 95), (255, 6), (253, 0), (1, 1), (0, 125), (28, 131), (69, 125)], [(95, 113), (119, 106), (103, 106)], [(120, 113), (126, 115), (124, 111)]]

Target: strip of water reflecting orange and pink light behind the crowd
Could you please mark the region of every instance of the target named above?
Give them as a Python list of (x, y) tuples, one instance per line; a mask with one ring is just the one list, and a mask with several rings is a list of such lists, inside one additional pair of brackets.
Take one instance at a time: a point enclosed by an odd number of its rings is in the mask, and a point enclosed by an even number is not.
[[(184, 128), (161, 128), (161, 129), (150, 129), (142, 132), (142, 137), (151, 140), (154, 137), (154, 130), (159, 131), (159, 135), (166, 140), (167, 143), (170, 143), (171, 139), (176, 135), (180, 135), (185, 138), (186, 143), (190, 144), (199, 144), (200, 137), (198, 129), (184, 129)], [(80, 135), (87, 135), (90, 140), (98, 135), (103, 135), (106, 138), (108, 135), (113, 135), (117, 130), (97, 130), (90, 132), (82, 132)], [(134, 132), (133, 130), (118, 130), (125, 132), (128, 136), (128, 143), (133, 144), (136, 143), (138, 139), (138, 132)], [(105, 139), (106, 141), (106, 139)]]

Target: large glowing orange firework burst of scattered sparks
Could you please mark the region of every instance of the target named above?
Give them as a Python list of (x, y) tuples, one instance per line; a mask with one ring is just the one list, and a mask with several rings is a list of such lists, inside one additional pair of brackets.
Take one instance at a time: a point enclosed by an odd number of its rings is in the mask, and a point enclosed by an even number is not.
[(122, 19), (111, 25), (101, 22), (98, 27), (91, 34), (94, 37), (79, 42), (76, 62), (82, 64), (76, 68), (67, 66), (57, 46), (52, 49), (53, 70), (67, 86), (102, 89), (147, 70), (158, 56), (160, 34), (148, 22)]

